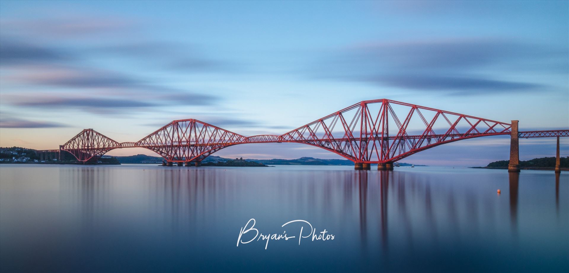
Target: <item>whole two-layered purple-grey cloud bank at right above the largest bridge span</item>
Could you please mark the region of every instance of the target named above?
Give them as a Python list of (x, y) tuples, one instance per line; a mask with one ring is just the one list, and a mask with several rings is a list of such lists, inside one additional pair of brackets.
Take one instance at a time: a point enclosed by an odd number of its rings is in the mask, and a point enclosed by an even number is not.
[(546, 86), (513, 72), (568, 75), (568, 58), (567, 48), (509, 39), (390, 41), (341, 49), (324, 57), (312, 74), (445, 95), (509, 93)]

